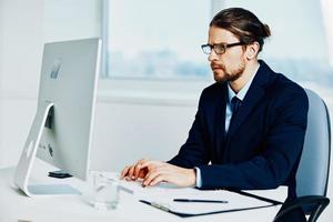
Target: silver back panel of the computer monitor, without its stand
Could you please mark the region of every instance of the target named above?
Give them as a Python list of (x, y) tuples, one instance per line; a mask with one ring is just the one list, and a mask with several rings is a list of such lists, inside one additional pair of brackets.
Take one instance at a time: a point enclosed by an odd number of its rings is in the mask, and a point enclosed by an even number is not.
[(47, 43), (38, 107), (53, 108), (42, 133), (38, 157), (85, 179), (92, 142), (97, 90), (98, 39)]

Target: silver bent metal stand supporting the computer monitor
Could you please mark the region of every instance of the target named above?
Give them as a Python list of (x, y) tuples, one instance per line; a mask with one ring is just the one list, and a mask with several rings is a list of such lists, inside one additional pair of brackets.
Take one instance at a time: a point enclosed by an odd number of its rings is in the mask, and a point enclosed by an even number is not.
[(80, 191), (68, 184), (28, 184), (40, 139), (52, 107), (52, 102), (46, 101), (38, 108), (20, 161), (16, 169), (14, 183), (28, 196), (81, 194)]

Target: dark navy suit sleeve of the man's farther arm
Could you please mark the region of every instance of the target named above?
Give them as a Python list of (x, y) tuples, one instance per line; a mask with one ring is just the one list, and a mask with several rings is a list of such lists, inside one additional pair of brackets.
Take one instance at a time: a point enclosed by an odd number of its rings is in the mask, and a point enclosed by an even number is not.
[(206, 137), (204, 134), (204, 121), (202, 102), (204, 91), (202, 92), (194, 122), (190, 129), (186, 142), (181, 147), (179, 153), (168, 161), (171, 164), (182, 168), (194, 168), (202, 164), (208, 164), (208, 150), (205, 149)]

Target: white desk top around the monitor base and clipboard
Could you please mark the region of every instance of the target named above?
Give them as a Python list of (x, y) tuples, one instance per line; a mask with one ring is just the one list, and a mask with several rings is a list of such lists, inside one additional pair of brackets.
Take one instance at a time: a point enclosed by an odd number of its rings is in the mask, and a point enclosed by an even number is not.
[[(38, 179), (48, 180), (52, 183), (69, 182), (79, 190), (87, 192), (88, 183), (77, 179), (50, 179), (43, 178), (50, 169), (41, 161), (36, 161), (32, 173), (32, 181)], [(22, 194), (12, 182), (14, 168), (0, 170), (0, 222), (11, 222), (18, 220), (46, 222), (46, 221), (101, 221), (101, 222), (202, 222), (204, 221), (271, 221), (280, 209), (279, 206), (240, 211), (233, 213), (222, 213), (204, 216), (194, 216), (182, 219), (168, 212), (154, 209), (150, 205), (140, 203), (129, 193), (122, 192), (120, 204), (117, 210), (102, 211), (92, 208), (83, 196), (44, 196), (44, 198), (28, 198)], [(271, 191), (252, 192), (263, 196), (283, 201), (286, 193), (286, 188), (280, 188)]]

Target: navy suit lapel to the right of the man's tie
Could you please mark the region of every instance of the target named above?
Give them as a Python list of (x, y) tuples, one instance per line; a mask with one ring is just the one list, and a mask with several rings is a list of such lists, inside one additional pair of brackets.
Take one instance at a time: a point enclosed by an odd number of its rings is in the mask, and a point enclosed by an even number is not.
[(228, 130), (228, 140), (230, 142), (231, 135), (240, 128), (240, 125), (246, 120), (251, 114), (253, 109), (260, 103), (262, 97), (264, 95), (265, 85), (270, 80), (270, 72), (273, 72), (263, 61), (260, 61), (260, 68), (251, 83), (249, 91), (239, 109), (239, 112), (234, 117), (233, 123)]

